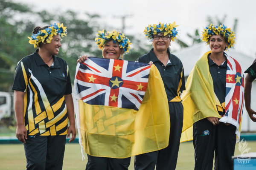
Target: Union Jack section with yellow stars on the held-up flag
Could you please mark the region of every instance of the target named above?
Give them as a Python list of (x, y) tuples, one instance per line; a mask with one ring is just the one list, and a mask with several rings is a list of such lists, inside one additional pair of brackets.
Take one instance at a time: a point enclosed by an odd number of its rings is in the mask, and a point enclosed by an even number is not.
[(148, 85), (150, 65), (88, 57), (76, 74), (83, 102), (139, 110)]

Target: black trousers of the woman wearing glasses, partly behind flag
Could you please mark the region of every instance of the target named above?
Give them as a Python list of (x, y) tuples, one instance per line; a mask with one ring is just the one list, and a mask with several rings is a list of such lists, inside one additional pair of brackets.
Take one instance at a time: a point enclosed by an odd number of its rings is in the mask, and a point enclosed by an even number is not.
[(134, 170), (175, 170), (183, 126), (183, 105), (169, 102), (170, 135), (168, 147), (135, 156)]

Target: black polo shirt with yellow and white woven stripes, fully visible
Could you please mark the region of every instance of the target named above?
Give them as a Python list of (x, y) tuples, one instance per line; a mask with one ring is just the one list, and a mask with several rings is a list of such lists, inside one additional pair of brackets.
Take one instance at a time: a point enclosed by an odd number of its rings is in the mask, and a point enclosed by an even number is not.
[(17, 64), (13, 90), (25, 92), (24, 123), (28, 135), (67, 134), (64, 95), (72, 93), (67, 62), (56, 56), (48, 66), (38, 50)]

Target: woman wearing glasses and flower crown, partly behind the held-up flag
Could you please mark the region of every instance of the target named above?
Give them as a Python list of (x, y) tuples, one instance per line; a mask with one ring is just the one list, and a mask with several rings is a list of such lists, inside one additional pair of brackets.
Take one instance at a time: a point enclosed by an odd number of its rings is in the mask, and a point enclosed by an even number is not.
[[(177, 36), (177, 25), (154, 24), (148, 25), (144, 30), (145, 36), (152, 41), (153, 48), (148, 54), (137, 59), (137, 62), (153, 62), (163, 79), (164, 87), (169, 101), (169, 114), (171, 120), (169, 146), (150, 153), (135, 156), (135, 170), (175, 169), (180, 146), (180, 135), (183, 125), (183, 105), (180, 94), (185, 90), (185, 79), (182, 62), (170, 53), (169, 46)], [(161, 114), (161, 113), (159, 113)]]

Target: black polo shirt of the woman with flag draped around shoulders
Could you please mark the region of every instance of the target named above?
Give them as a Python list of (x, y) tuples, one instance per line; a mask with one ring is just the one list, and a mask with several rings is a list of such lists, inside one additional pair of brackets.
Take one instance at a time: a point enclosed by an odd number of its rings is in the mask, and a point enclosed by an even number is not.
[[(208, 54), (209, 71), (212, 76), (213, 90), (218, 97), (221, 105), (225, 105), (226, 98), (226, 74), (227, 74), (227, 57), (226, 60), (221, 64), (217, 65)], [(224, 53), (226, 56), (227, 54)], [(220, 115), (224, 115), (224, 112), (218, 111)]]

